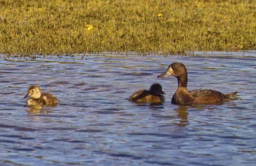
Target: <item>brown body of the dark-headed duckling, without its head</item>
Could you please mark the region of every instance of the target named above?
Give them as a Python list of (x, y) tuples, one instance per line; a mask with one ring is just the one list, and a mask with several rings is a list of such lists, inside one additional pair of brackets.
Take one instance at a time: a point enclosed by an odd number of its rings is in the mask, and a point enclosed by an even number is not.
[(163, 95), (153, 95), (148, 90), (138, 90), (129, 100), (139, 103), (163, 103), (165, 99)]

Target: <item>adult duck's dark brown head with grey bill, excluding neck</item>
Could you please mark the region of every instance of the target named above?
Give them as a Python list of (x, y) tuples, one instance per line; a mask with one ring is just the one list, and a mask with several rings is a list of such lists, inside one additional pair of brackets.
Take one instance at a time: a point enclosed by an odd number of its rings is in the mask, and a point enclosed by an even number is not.
[(187, 69), (185, 65), (180, 62), (174, 62), (169, 65), (168, 69), (163, 74), (157, 76), (157, 78), (165, 78), (168, 76), (175, 76), (179, 78), (184, 75), (187, 76)]

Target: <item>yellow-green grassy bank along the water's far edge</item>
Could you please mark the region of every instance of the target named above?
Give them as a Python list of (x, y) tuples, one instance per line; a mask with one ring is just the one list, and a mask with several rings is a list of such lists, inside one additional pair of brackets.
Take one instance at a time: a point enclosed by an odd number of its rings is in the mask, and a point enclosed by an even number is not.
[(255, 45), (256, 0), (0, 0), (1, 54), (182, 54)]

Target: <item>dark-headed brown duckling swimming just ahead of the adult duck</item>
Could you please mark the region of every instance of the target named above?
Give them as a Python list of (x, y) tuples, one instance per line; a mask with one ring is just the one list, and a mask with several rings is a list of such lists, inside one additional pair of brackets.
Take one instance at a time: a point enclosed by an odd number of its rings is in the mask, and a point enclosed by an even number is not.
[(150, 90), (138, 90), (129, 98), (130, 101), (138, 103), (164, 103), (165, 94), (162, 86), (158, 83), (151, 85)]

